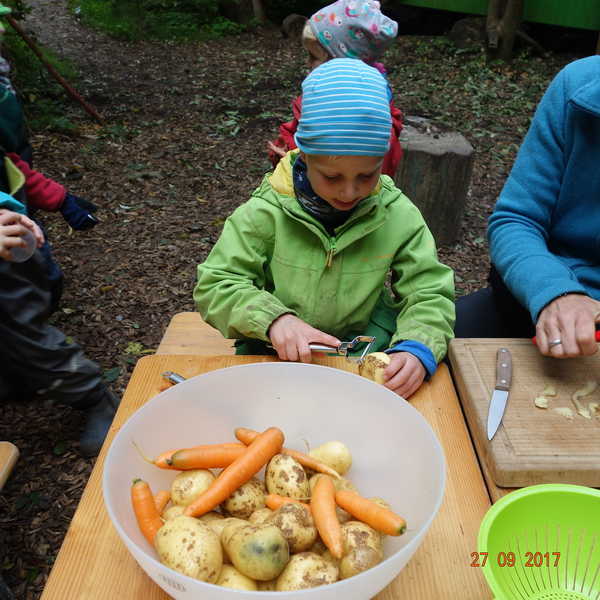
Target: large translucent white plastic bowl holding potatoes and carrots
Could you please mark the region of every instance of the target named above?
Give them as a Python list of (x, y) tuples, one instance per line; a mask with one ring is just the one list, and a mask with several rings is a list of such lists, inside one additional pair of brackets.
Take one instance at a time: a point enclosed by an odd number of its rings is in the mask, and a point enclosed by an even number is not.
[[(138, 530), (130, 487), (140, 477), (154, 492), (168, 489), (174, 472), (144, 462), (132, 442), (156, 456), (172, 448), (235, 441), (236, 427), (269, 426), (282, 429), (289, 448), (304, 450), (305, 440), (312, 447), (333, 439), (348, 445), (353, 465), (347, 477), (365, 496), (385, 498), (408, 524), (404, 535), (386, 538), (382, 563), (309, 590), (243, 592), (181, 575), (158, 561)], [(442, 502), (445, 477), (443, 451), (427, 421), (383, 386), (329, 367), (256, 363), (193, 377), (152, 398), (115, 436), (103, 491), (131, 554), (177, 600), (366, 600), (398, 575), (420, 545)]]

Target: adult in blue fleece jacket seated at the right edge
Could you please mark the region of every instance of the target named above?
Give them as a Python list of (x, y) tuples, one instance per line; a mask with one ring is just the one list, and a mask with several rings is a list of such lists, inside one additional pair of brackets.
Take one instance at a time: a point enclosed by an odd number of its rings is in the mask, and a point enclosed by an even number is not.
[(535, 323), (542, 354), (596, 352), (600, 56), (569, 64), (546, 90), (489, 219), (488, 237), (492, 287), (459, 301), (457, 336), (481, 333), (472, 316), (485, 315), (487, 301), (490, 322), (499, 329), (484, 337), (506, 335), (512, 319), (511, 336), (515, 323), (523, 324), (520, 336), (530, 335)]

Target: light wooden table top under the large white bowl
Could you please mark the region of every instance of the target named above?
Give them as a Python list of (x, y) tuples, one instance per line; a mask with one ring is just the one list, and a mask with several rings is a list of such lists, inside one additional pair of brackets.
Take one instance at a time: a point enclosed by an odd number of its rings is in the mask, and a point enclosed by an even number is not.
[[(316, 357), (315, 357), (316, 358)], [(42, 600), (166, 600), (137, 565), (104, 508), (102, 470), (110, 443), (129, 416), (169, 387), (161, 373), (192, 377), (217, 368), (274, 360), (264, 356), (154, 355), (136, 365), (98, 456), (81, 502), (42, 594)], [(343, 358), (323, 356), (317, 364), (354, 371)], [(471, 567), (477, 533), (490, 498), (467, 426), (445, 365), (411, 398), (438, 436), (448, 465), (444, 502), (411, 561), (377, 600), (491, 598), (479, 568)]]

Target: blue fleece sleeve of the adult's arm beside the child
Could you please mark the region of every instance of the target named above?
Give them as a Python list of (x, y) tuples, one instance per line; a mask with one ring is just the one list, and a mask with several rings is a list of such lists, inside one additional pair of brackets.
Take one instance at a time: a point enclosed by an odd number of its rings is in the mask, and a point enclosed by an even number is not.
[(492, 262), (534, 322), (561, 294), (585, 293), (571, 269), (548, 248), (568, 158), (570, 73), (569, 67), (563, 69), (546, 90), (488, 223)]

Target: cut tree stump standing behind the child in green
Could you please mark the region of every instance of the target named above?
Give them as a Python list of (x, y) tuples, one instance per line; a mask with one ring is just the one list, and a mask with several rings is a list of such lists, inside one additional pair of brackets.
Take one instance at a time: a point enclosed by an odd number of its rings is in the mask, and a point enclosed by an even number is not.
[(421, 211), (436, 244), (452, 244), (464, 214), (473, 147), (459, 133), (416, 116), (405, 117), (400, 145), (396, 185)]

